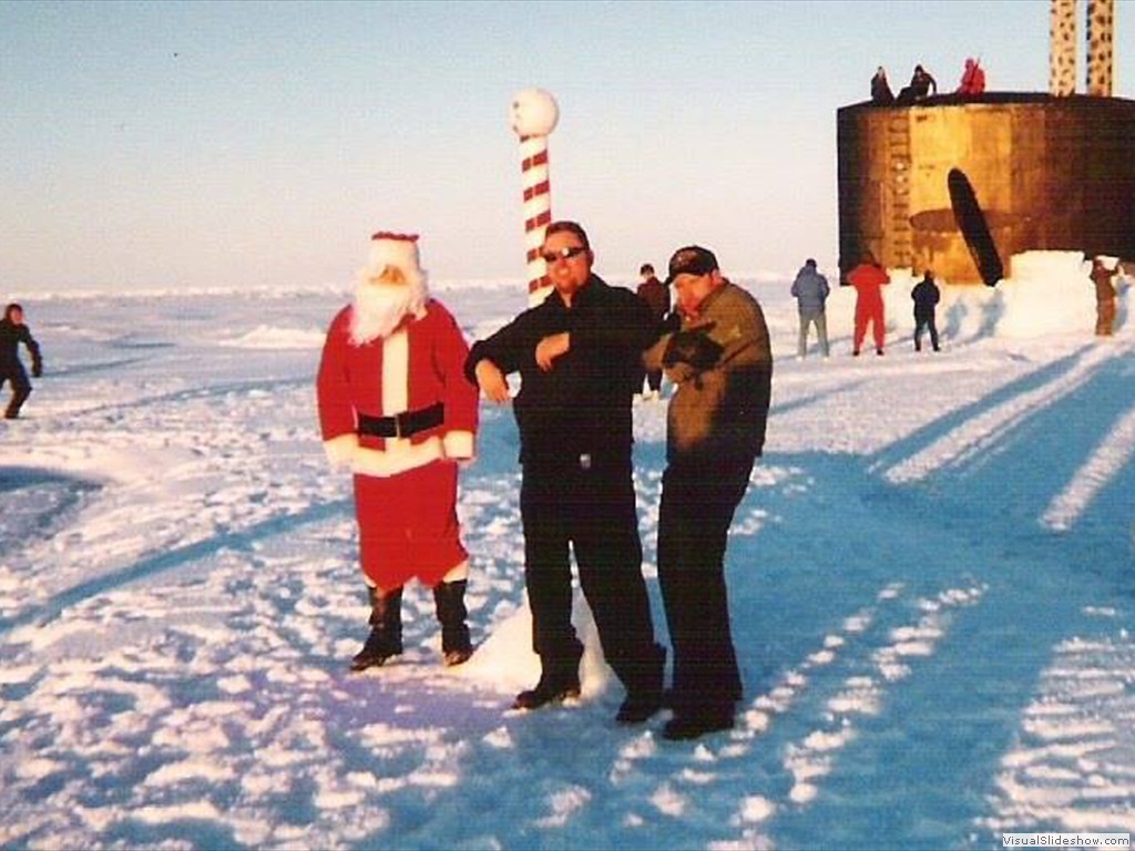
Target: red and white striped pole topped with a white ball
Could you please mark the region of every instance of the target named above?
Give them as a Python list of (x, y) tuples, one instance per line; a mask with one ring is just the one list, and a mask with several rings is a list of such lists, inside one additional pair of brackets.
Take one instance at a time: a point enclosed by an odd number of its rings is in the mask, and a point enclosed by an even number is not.
[(543, 89), (526, 89), (512, 100), (512, 129), (520, 137), (521, 175), (524, 186), (524, 247), (527, 250), (528, 303), (543, 302), (548, 286), (547, 266), (540, 256), (544, 233), (552, 222), (548, 180), (548, 134), (560, 120), (556, 100)]

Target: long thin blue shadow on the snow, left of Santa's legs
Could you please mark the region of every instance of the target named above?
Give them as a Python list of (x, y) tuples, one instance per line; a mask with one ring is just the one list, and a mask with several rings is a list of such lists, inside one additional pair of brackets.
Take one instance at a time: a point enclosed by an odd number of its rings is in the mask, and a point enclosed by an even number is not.
[(205, 558), (218, 550), (229, 549), (247, 551), (252, 549), (255, 542), (266, 538), (287, 534), (297, 526), (309, 523), (319, 523), (328, 517), (339, 514), (350, 515), (353, 511), (351, 499), (336, 499), (329, 503), (316, 504), (296, 514), (284, 514), (269, 517), (268, 520), (261, 521), (260, 523), (249, 526), (247, 529), (222, 532), (195, 544), (188, 544), (184, 547), (177, 547), (166, 553), (159, 553), (148, 558), (143, 558), (140, 562), (135, 562), (129, 567), (104, 573), (89, 580), (87, 582), (81, 582), (66, 591), (54, 595), (40, 606), (36, 606), (28, 612), (24, 612), (20, 615), (0, 618), (0, 634), (10, 632), (17, 626), (24, 626), (30, 623), (45, 624), (59, 617), (60, 613), (68, 606), (74, 606), (77, 603), (82, 603), (91, 597), (115, 590), (128, 584), (129, 582), (149, 579), (175, 567)]

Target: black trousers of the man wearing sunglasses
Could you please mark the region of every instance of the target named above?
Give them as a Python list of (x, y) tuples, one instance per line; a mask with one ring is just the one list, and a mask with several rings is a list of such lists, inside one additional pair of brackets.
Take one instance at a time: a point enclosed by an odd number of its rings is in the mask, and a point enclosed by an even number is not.
[(571, 623), (571, 563), (607, 664), (633, 691), (659, 663), (630, 458), (589, 469), (524, 464), (520, 490), (524, 580), (532, 608), (532, 649), (545, 672), (579, 664), (583, 647)]

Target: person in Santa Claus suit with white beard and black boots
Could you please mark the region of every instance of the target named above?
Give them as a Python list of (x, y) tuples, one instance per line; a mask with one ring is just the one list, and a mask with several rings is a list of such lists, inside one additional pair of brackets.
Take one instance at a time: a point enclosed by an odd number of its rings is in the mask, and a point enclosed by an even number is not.
[(317, 396), (323, 447), (354, 473), (370, 637), (353, 671), (402, 652), (402, 588), (432, 587), (446, 665), (472, 655), (457, 463), (473, 456), (477, 387), (453, 315), (429, 297), (418, 236), (380, 231), (354, 301), (327, 332)]

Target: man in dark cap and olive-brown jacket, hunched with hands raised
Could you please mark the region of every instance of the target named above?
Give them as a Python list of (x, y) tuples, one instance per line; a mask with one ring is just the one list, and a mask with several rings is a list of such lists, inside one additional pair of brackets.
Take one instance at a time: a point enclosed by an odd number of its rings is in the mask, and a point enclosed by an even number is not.
[(658, 582), (674, 650), (666, 739), (733, 726), (741, 674), (730, 629), (725, 546), (765, 444), (773, 356), (760, 304), (707, 248), (670, 260), (681, 327), (646, 353), (678, 386), (666, 415)]

